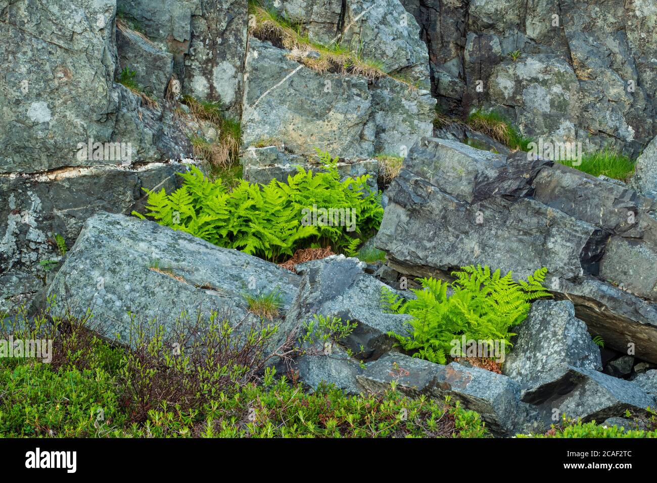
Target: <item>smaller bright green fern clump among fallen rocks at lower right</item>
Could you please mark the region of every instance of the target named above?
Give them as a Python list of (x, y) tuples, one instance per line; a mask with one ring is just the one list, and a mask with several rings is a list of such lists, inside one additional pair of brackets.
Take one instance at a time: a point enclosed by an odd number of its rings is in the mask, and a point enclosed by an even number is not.
[[(419, 279), (422, 289), (413, 289), (415, 300), (404, 301), (382, 287), (381, 300), (387, 310), (413, 316), (410, 336), (390, 333), (405, 350), (416, 351), (414, 357), (444, 364), (453, 340), (486, 340), (492, 349), (493, 340), (510, 344), (510, 327), (527, 317), (532, 300), (551, 296), (541, 285), (547, 269), (537, 269), (527, 281), (512, 279), (512, 273), (502, 277), (499, 269), (462, 267), (452, 272), (451, 284), (429, 278)], [(448, 288), (453, 290), (447, 295)]]

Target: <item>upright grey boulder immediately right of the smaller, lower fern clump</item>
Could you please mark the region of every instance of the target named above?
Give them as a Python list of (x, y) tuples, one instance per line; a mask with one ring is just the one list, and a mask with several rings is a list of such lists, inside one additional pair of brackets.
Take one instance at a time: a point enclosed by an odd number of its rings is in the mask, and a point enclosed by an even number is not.
[(534, 302), (527, 319), (514, 331), (518, 336), (503, 374), (522, 385), (525, 402), (540, 403), (551, 397), (570, 367), (602, 370), (600, 349), (586, 324), (576, 319), (571, 302)]

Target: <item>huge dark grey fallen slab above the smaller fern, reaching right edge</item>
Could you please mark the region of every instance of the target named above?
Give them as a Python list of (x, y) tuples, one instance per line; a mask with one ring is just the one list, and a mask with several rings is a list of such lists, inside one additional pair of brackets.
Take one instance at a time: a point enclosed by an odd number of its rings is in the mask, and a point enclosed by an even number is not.
[(423, 139), (386, 194), (376, 246), (393, 269), (444, 276), (474, 263), (525, 278), (545, 266), (592, 333), (657, 361), (656, 220), (634, 191), (526, 153)]

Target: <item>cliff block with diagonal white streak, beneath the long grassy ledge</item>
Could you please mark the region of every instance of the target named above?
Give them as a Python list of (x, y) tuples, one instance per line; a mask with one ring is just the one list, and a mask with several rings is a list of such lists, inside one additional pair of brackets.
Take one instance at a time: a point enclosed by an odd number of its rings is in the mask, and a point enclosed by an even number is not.
[(333, 156), (371, 158), (405, 153), (432, 132), (428, 91), (392, 78), (321, 74), (269, 42), (250, 39), (242, 103), (245, 147), (275, 139), (294, 154), (315, 147)]

